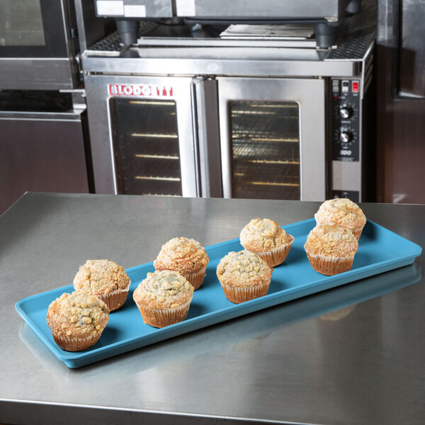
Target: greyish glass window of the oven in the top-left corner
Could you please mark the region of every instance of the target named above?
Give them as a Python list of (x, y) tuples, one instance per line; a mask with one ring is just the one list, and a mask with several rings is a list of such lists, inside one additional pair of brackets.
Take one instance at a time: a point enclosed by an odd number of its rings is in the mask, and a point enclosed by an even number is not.
[(67, 57), (60, 0), (0, 0), (0, 57)]

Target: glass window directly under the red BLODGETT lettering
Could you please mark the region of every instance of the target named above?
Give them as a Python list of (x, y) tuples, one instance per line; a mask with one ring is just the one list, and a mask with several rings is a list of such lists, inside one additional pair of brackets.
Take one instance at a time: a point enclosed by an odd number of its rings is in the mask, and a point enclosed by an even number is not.
[(111, 98), (118, 193), (181, 196), (175, 101)]

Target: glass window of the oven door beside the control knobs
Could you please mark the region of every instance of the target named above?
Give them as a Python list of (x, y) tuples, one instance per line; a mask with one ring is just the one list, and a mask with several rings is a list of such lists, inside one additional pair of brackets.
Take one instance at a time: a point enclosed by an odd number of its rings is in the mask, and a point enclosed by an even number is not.
[(296, 102), (229, 101), (233, 198), (300, 199)]

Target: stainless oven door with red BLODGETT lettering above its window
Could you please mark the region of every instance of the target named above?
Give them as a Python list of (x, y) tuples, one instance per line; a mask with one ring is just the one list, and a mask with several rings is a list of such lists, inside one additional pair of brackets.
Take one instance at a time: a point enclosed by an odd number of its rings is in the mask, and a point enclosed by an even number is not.
[(199, 194), (191, 77), (85, 79), (96, 193)]

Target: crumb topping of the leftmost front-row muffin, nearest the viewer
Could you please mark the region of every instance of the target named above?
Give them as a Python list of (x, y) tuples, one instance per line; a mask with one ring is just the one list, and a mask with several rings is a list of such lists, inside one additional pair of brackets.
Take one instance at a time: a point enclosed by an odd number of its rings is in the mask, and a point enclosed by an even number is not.
[(109, 320), (108, 306), (96, 295), (74, 291), (51, 302), (47, 315), (59, 336), (84, 338), (103, 331)]

